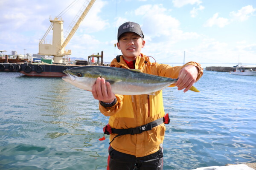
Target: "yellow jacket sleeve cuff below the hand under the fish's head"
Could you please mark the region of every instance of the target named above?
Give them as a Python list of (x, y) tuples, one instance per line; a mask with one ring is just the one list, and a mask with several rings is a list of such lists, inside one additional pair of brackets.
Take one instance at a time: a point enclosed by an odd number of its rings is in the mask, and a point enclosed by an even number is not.
[(99, 103), (99, 111), (105, 116), (112, 116), (116, 114), (122, 108), (123, 95), (116, 94), (116, 104), (110, 108), (105, 108)]

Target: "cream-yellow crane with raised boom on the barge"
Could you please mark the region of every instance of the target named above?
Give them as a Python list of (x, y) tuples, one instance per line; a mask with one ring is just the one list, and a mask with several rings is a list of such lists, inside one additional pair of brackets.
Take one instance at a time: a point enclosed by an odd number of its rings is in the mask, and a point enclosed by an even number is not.
[[(47, 55), (54, 57), (54, 63), (62, 63), (62, 58), (65, 55), (70, 55), (71, 50), (65, 50), (67, 43), (75, 34), (77, 28), (79, 27), (84, 17), (87, 15), (90, 8), (93, 6), (95, 0), (85, 0), (78, 14), (70, 24), (67, 37), (64, 40), (63, 35), (63, 20), (61, 17), (50, 17), (51, 25), (49, 26), (47, 32), (44, 34), (44, 37), (39, 42), (39, 54)], [(52, 30), (52, 40), (46, 40), (45, 38), (49, 34), (49, 31)]]

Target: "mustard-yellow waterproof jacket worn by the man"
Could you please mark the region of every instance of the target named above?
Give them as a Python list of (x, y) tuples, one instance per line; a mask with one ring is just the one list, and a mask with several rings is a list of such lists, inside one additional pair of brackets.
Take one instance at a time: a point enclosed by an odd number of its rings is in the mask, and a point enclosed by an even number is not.
[[(195, 65), (198, 68), (197, 80), (200, 79), (203, 75), (203, 68), (196, 62), (188, 62), (183, 66), (171, 67), (166, 64), (151, 63), (148, 57), (140, 54), (136, 59), (135, 69), (147, 74), (177, 78), (179, 71), (186, 65)], [(113, 59), (111, 67), (128, 68), (122, 56), (120, 57), (120, 62)], [(111, 108), (99, 105), (99, 110), (105, 116), (110, 116), (109, 125), (112, 128), (134, 128), (153, 122), (165, 115), (162, 91), (157, 91), (154, 96), (147, 94), (135, 96), (116, 94), (116, 99), (116, 105)], [(113, 140), (111, 146), (119, 152), (135, 155), (136, 157), (147, 156), (160, 149), (165, 130), (165, 125), (161, 124), (140, 134), (118, 136)], [(110, 141), (115, 136), (116, 134), (112, 133)]]

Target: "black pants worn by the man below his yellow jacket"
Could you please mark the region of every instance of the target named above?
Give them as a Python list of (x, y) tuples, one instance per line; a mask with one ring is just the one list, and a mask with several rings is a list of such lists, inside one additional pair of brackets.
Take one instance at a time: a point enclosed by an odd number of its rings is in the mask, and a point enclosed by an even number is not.
[(135, 157), (126, 153), (108, 150), (107, 170), (163, 170), (163, 148), (148, 156)]

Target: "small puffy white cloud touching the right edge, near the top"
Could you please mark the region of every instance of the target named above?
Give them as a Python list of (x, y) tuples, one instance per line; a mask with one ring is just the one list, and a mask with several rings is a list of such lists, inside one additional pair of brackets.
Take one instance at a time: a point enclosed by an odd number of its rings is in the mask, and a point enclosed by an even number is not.
[(253, 6), (248, 5), (242, 7), (239, 11), (230, 12), (230, 16), (233, 18), (233, 20), (239, 20), (239, 21), (245, 21), (248, 20), (250, 16), (253, 15), (253, 13), (256, 11), (256, 8), (253, 8)]

